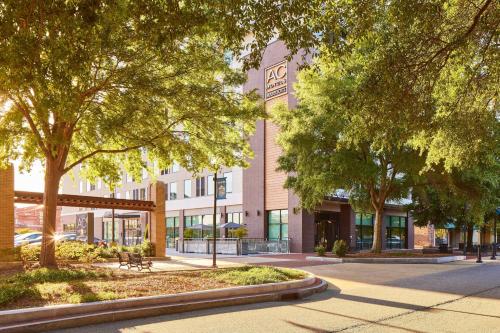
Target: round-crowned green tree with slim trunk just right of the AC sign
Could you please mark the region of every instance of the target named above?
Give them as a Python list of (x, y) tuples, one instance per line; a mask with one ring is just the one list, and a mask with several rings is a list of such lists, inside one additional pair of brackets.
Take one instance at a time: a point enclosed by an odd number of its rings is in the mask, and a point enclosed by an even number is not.
[(366, 51), (372, 42), (340, 59), (321, 53), (298, 76), (298, 107), (278, 108), (275, 119), (286, 186), (308, 209), (347, 191), (354, 207), (375, 212), (372, 251), (380, 252), (384, 205), (408, 196), (423, 159), (408, 144), (411, 124), (421, 121), (406, 106), (414, 97)]

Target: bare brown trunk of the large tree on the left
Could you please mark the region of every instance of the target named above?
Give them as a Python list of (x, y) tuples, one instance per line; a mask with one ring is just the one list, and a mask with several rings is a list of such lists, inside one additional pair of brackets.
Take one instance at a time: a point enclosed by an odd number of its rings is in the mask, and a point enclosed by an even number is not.
[(45, 189), (43, 194), (43, 237), (40, 253), (40, 266), (54, 267), (56, 263), (56, 247), (54, 234), (56, 231), (57, 194), (61, 172), (57, 163), (50, 157), (45, 163)]

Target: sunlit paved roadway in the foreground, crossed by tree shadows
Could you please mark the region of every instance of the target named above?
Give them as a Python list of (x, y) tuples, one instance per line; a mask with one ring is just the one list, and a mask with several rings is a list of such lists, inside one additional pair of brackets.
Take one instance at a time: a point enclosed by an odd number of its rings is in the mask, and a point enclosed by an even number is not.
[(334, 264), (302, 269), (327, 280), (329, 289), (299, 301), (60, 332), (500, 332), (500, 263)]

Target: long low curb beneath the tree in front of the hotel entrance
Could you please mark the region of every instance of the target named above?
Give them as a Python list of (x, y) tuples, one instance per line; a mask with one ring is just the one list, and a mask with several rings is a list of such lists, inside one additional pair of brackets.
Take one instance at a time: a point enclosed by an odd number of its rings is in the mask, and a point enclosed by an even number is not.
[(306, 257), (311, 261), (326, 261), (332, 263), (356, 264), (444, 264), (453, 261), (465, 260), (465, 256), (420, 257), (420, 258), (333, 258), (333, 257)]

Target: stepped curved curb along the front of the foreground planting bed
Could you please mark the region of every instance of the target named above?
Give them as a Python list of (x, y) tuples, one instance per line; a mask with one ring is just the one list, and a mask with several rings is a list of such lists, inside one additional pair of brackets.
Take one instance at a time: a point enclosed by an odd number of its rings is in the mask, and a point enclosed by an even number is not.
[(321, 292), (314, 276), (297, 281), (94, 303), (0, 311), (0, 332), (40, 332), (222, 306), (297, 299)]

